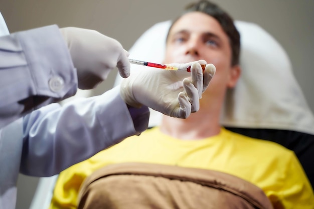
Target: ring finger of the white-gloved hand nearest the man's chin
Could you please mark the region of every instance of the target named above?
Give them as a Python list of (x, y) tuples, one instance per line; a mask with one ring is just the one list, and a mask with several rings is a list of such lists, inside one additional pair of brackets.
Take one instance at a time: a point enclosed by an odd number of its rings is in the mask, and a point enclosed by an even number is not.
[(188, 78), (183, 80), (183, 88), (191, 104), (191, 112), (197, 112), (200, 109), (199, 90)]

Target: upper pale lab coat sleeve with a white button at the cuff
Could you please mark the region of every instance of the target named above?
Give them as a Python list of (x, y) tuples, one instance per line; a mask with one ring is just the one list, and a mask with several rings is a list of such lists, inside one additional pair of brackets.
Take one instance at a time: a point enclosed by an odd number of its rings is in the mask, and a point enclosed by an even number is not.
[(76, 70), (56, 25), (0, 37), (0, 128), (76, 90)]

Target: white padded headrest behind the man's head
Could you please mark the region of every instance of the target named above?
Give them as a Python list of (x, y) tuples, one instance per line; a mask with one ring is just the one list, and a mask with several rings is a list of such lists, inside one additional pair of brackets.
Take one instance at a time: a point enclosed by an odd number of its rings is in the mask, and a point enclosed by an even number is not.
[[(171, 21), (165, 21), (148, 29), (129, 50), (130, 58), (163, 62), (170, 25)], [(242, 75), (237, 86), (227, 94), (221, 124), (314, 134), (313, 114), (283, 48), (256, 24), (236, 21), (235, 25), (241, 35)], [(131, 71), (141, 68), (145, 67), (131, 65)], [(120, 80), (117, 76), (115, 85)], [(160, 118), (160, 113), (151, 110), (149, 126), (158, 125)]]

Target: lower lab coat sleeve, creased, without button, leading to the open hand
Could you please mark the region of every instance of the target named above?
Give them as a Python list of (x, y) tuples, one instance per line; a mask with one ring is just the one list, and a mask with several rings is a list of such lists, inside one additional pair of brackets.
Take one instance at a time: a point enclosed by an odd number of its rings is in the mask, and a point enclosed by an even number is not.
[(24, 117), (20, 172), (51, 176), (148, 126), (149, 110), (128, 108), (119, 86), (60, 107), (51, 104)]

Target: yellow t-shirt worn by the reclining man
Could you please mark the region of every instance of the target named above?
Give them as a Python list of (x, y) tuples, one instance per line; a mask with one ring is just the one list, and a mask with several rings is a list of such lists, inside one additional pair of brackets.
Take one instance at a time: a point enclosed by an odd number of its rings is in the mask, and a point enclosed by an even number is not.
[[(259, 186), (274, 207), (314, 208), (314, 194), (293, 151), (224, 128), (202, 140), (180, 140), (152, 128), (60, 173), (50, 208), (76, 208), (86, 176), (121, 162), (147, 162), (226, 172)], [(281, 207), (280, 207), (281, 208)]]

